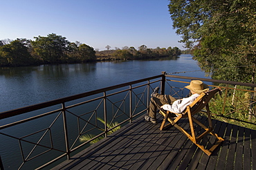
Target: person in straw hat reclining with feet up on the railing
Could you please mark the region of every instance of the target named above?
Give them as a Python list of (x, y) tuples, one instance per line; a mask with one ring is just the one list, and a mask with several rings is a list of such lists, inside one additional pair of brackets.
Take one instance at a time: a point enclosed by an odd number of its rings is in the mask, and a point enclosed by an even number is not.
[(185, 88), (188, 88), (192, 95), (181, 100), (176, 100), (171, 95), (158, 94), (159, 88), (156, 87), (151, 95), (149, 114), (145, 115), (145, 120), (156, 124), (156, 110), (159, 108), (171, 111), (172, 113), (182, 113), (188, 105), (196, 100), (196, 97), (199, 97), (199, 95), (205, 91), (209, 91), (208, 85), (200, 80), (192, 80), (190, 85), (185, 86)]

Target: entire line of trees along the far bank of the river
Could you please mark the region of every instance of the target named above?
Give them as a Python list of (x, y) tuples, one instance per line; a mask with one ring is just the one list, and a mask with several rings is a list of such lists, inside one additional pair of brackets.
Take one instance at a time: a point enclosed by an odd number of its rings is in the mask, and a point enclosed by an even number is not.
[(3, 39), (0, 41), (0, 66), (30, 66), (39, 64), (71, 64), (96, 62), (109, 59), (153, 59), (181, 55), (177, 47), (147, 48), (142, 45), (138, 50), (134, 47), (123, 47), (111, 50), (94, 50), (93, 47), (81, 44), (79, 41), (70, 42), (66, 37), (54, 33), (47, 37), (30, 39)]

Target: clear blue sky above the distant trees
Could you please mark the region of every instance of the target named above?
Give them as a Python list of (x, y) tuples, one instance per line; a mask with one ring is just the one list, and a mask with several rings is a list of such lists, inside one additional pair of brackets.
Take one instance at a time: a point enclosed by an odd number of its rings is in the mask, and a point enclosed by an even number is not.
[(0, 0), (1, 39), (55, 33), (68, 41), (106, 50), (106, 46), (145, 45), (168, 48), (183, 44), (172, 28), (167, 0)]

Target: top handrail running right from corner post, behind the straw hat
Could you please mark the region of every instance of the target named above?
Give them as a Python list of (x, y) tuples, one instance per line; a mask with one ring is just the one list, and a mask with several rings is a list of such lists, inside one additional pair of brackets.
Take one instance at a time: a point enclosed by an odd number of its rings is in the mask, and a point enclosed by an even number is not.
[(205, 82), (213, 82), (213, 83), (223, 83), (223, 84), (232, 84), (232, 85), (239, 85), (239, 86), (250, 86), (250, 87), (256, 87), (256, 84), (252, 83), (242, 83), (242, 82), (233, 82), (233, 81), (226, 81), (226, 80), (219, 80), (219, 79), (206, 79), (206, 78), (199, 78), (199, 77), (187, 77), (187, 76), (181, 76), (181, 75), (165, 75), (166, 77), (172, 77), (172, 78), (179, 78), (179, 79), (199, 79), (201, 81)]

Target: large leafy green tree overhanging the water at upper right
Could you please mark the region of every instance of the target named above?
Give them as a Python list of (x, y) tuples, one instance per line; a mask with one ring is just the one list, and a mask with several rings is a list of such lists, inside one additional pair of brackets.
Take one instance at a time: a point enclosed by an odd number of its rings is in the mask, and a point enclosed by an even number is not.
[(181, 42), (214, 79), (253, 82), (256, 64), (256, 1), (170, 0)]

